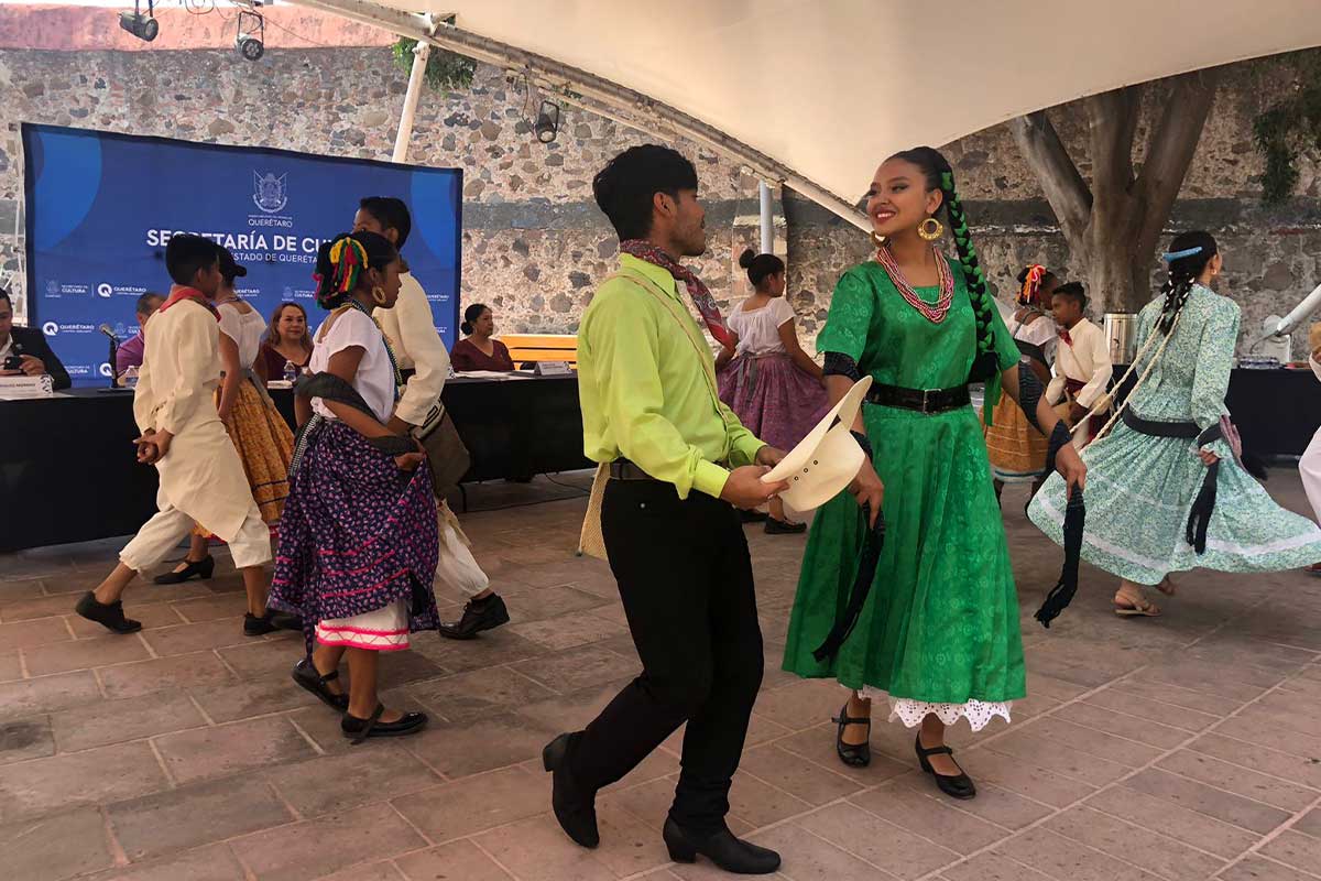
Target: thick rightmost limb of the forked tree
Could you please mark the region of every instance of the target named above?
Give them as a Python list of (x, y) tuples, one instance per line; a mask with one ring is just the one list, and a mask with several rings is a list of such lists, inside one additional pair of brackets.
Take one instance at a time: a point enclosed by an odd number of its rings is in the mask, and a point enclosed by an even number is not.
[(1215, 102), (1219, 77), (1219, 69), (1176, 77), (1160, 122), (1148, 132), (1143, 172), (1135, 188), (1144, 207), (1143, 225), (1135, 242), (1139, 255), (1151, 254), (1165, 229)]

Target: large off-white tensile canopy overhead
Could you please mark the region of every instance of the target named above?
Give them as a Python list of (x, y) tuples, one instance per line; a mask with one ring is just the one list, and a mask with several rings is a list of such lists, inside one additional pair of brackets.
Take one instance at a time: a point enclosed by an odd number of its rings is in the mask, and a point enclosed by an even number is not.
[(1321, 0), (293, 1), (435, 33), (593, 110), (695, 136), (845, 215), (894, 151), (1321, 45)]

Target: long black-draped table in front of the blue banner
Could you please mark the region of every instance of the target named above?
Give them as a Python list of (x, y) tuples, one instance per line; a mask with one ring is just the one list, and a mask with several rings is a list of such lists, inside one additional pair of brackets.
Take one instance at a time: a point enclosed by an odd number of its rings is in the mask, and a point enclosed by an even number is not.
[[(0, 400), (0, 551), (132, 535), (156, 512), (156, 469), (135, 460), (133, 396), (73, 390)], [(293, 424), (293, 394), (272, 388)], [(450, 379), (441, 398), (472, 454), (465, 482), (590, 468), (577, 376)]]

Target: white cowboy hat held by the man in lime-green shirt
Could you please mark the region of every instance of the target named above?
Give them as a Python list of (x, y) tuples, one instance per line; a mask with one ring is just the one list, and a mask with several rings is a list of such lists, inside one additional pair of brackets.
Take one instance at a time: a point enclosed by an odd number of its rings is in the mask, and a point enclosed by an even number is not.
[(871, 387), (871, 376), (853, 383), (848, 394), (816, 423), (816, 428), (789, 450), (779, 465), (762, 476), (766, 483), (789, 483), (789, 489), (779, 494), (785, 505), (795, 511), (811, 511), (835, 498), (857, 477), (867, 454), (849, 429)]

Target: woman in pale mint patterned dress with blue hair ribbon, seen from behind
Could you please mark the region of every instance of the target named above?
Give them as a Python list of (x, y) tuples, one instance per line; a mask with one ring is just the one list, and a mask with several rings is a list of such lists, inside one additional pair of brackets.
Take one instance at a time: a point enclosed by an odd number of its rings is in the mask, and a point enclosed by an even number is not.
[[(1170, 572), (1276, 572), (1321, 560), (1321, 530), (1285, 511), (1223, 437), (1238, 305), (1210, 285), (1222, 258), (1209, 232), (1169, 246), (1161, 295), (1137, 314), (1136, 386), (1091, 469), (1082, 559), (1119, 576), (1115, 614), (1155, 617), (1143, 585), (1173, 593)], [(1028, 516), (1063, 543), (1063, 485), (1046, 481)]]

